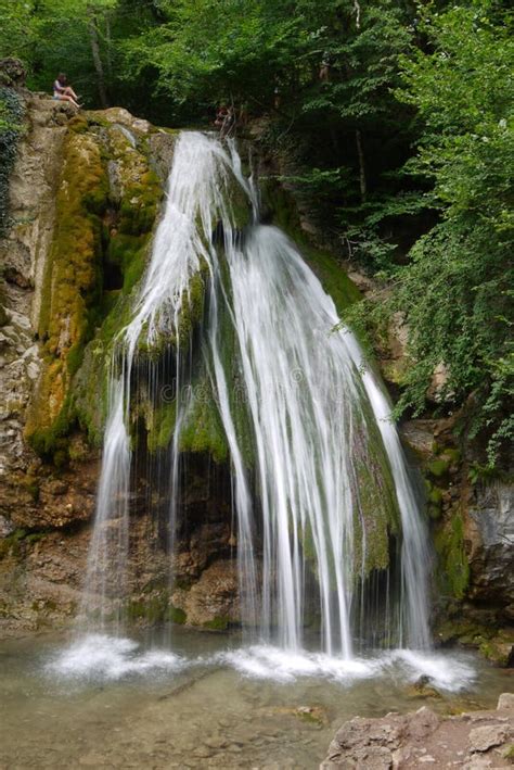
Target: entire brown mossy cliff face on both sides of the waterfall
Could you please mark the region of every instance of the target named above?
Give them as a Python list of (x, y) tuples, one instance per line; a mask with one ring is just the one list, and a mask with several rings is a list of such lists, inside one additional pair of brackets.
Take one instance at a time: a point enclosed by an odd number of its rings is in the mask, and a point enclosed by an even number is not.
[[(25, 94), (25, 106), (11, 176), (12, 225), (0, 241), (5, 634), (54, 627), (77, 608), (94, 513), (105, 367), (146, 264), (175, 142), (172, 131), (120, 109), (76, 115), (34, 94)], [(298, 225), (280, 191), (265, 197), (278, 224)], [(303, 231), (294, 235), (336, 304), (355, 299), (339, 267), (308, 244), (307, 218), (298, 227)], [(400, 326), (384, 355), (386, 377), (394, 379), (406, 365), (403, 343)], [(134, 426), (142, 447), (157, 458), (172, 428), (167, 408), (143, 409)], [(138, 622), (168, 618), (219, 629), (240, 619), (227, 447), (207, 414), (210, 407), (202, 408), (183, 438), (190, 481), (181, 492), (171, 608), (158, 516), (152, 538), (138, 537), (149, 527), (149, 481), (138, 471), (128, 603)], [(506, 662), (511, 642), (500, 630), (513, 617), (512, 488), (470, 483), (470, 458), (455, 444), (451, 420), (416, 420), (406, 425), (404, 436), (427, 482), (440, 640), (463, 639)], [(152, 505), (164, 519), (167, 501)]]

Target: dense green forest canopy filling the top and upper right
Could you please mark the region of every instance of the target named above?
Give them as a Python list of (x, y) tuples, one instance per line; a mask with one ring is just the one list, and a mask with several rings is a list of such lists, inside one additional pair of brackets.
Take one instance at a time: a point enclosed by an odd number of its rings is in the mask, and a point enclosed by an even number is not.
[(90, 108), (169, 126), (209, 125), (223, 103), (260, 118), (327, 239), (388, 287), (352, 321), (407, 319), (399, 411), (422, 414), (442, 368), (435, 408), (465, 405), (464, 434), (498, 467), (514, 433), (507, 3), (0, 0), (0, 54), (34, 90), (65, 70)]

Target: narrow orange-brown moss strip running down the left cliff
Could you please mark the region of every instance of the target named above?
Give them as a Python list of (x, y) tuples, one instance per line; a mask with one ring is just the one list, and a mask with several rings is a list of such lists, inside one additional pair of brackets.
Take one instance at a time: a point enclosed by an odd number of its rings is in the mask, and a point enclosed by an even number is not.
[(93, 137), (68, 132), (62, 159), (38, 325), (44, 365), (25, 429), (33, 447), (43, 456), (65, 453), (64, 437), (74, 421), (69, 387), (92, 334), (94, 308), (101, 298), (101, 216), (108, 193)]

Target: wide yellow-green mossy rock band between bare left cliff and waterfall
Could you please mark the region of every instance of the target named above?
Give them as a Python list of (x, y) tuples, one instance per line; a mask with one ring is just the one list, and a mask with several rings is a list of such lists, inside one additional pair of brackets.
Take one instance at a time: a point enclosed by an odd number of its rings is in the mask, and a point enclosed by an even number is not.
[(131, 318), (162, 195), (144, 141), (136, 149), (100, 114), (69, 122), (38, 325), (44, 365), (25, 429), (53, 463), (67, 462), (77, 424), (101, 441), (108, 362)]

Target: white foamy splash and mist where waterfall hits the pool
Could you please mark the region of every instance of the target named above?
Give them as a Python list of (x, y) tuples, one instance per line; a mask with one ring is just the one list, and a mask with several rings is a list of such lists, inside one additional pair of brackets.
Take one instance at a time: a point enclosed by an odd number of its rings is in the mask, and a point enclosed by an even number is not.
[[(194, 640), (194, 634), (192, 636)], [(185, 635), (184, 641), (191, 636)], [(431, 686), (447, 693), (470, 687), (476, 679), (470, 656), (448, 652), (411, 649), (370, 651), (362, 657), (344, 658), (309, 649), (284, 649), (271, 644), (217, 648), (217, 638), (204, 645), (195, 640), (180, 644), (174, 634), (174, 652), (166, 646), (108, 634), (87, 634), (55, 651), (43, 665), (49, 678), (57, 680), (115, 681), (126, 678), (172, 679), (178, 673), (233, 669), (244, 678), (286, 684), (300, 679), (327, 680), (344, 687), (373, 678), (394, 679), (403, 684), (428, 677)], [(200, 652), (195, 647), (202, 646)], [(177, 652), (179, 651), (179, 652)]]

